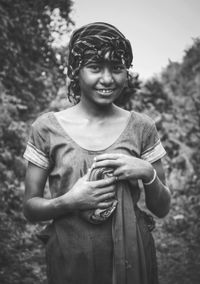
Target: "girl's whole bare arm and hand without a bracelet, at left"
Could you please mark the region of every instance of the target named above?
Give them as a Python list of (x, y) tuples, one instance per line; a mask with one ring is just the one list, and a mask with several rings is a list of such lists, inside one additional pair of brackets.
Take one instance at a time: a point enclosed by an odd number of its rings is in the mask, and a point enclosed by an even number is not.
[(88, 182), (80, 178), (70, 191), (53, 199), (45, 199), (44, 187), (48, 171), (29, 162), (25, 179), (24, 215), (31, 222), (46, 221), (74, 210), (107, 208), (113, 198), (114, 178)]

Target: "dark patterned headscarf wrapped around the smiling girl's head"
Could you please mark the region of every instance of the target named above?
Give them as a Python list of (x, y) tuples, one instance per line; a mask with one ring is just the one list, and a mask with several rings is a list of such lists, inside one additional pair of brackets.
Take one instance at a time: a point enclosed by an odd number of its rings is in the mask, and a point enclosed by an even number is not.
[(71, 36), (69, 43), (69, 58), (67, 75), (71, 80), (69, 88), (74, 97), (80, 97), (77, 86), (77, 75), (80, 68), (90, 60), (103, 59), (109, 54), (109, 60), (119, 60), (127, 68), (131, 66), (133, 55), (128, 39), (113, 25), (95, 22), (85, 25)]

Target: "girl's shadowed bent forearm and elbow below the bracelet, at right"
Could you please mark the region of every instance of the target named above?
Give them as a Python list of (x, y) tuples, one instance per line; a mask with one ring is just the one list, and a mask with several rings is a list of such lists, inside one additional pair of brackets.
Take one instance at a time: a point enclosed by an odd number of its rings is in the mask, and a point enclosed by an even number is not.
[(170, 209), (171, 194), (158, 177), (150, 185), (144, 185), (147, 208), (159, 218), (167, 215)]

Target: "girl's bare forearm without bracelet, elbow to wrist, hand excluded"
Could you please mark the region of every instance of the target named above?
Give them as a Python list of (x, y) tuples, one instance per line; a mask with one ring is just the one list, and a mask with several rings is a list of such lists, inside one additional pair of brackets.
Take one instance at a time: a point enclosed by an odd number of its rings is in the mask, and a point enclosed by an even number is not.
[(24, 215), (31, 222), (47, 221), (58, 218), (75, 210), (70, 194), (45, 199), (32, 197), (24, 202)]

